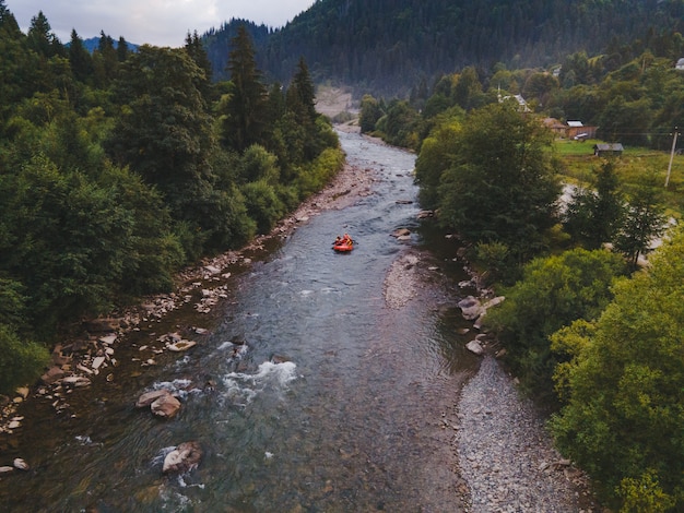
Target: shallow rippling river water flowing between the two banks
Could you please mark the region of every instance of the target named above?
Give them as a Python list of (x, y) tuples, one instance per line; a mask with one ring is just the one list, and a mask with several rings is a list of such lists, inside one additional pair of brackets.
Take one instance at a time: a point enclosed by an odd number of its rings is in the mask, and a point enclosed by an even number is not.
[[(1, 511), (461, 511), (443, 416), (476, 360), (457, 335), (456, 248), (416, 220), (412, 154), (340, 139), (351, 164), (377, 174), (374, 193), (312, 217), (236, 276), (220, 323), (181, 357), (122, 365), (111, 383), (75, 391), (72, 415), (28, 402), (0, 465), (21, 456), (31, 469), (0, 475)], [(411, 242), (390, 237), (400, 227)], [(358, 244), (334, 253), (344, 231)], [(386, 276), (406, 251), (427, 277), (390, 308)], [(134, 408), (163, 386), (181, 399), (176, 418)], [(190, 440), (199, 466), (163, 475)]]

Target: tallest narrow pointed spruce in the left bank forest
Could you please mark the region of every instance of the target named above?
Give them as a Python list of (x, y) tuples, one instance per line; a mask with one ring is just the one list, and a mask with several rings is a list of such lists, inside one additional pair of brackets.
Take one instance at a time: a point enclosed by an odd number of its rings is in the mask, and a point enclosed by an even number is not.
[(231, 90), (223, 108), (223, 136), (231, 148), (241, 153), (250, 145), (262, 142), (268, 126), (267, 88), (261, 82), (255, 49), (244, 26), (232, 39), (227, 69)]

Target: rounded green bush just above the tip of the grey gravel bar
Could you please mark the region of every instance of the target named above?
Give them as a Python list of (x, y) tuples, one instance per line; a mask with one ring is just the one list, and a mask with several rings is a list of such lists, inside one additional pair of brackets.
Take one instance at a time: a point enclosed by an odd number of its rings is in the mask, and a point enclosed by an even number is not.
[(552, 378), (563, 355), (552, 354), (549, 337), (577, 319), (598, 317), (622, 272), (620, 256), (603, 250), (574, 249), (524, 265), (522, 278), (504, 290), (506, 301), (484, 321), (506, 345), (523, 386), (552, 398)]

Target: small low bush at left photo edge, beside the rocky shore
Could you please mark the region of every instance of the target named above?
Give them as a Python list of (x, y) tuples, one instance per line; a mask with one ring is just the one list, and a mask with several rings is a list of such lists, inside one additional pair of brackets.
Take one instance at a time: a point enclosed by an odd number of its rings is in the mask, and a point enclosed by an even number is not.
[(21, 339), (8, 325), (0, 323), (0, 393), (11, 394), (17, 386), (33, 384), (49, 358), (45, 347)]

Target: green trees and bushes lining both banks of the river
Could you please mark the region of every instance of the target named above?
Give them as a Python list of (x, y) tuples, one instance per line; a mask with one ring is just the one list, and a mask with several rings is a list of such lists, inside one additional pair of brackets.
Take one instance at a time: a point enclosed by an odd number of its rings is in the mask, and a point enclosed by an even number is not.
[[(102, 34), (90, 55), (75, 31), (61, 45), (43, 14), (22, 34), (3, 0), (0, 47), (3, 391), (37, 375), (59, 330), (168, 290), (184, 265), (268, 231), (342, 163), (306, 62), (287, 87), (267, 87), (245, 29), (220, 83), (197, 34), (134, 53)], [(667, 191), (648, 159), (591, 160), (561, 210), (567, 160), (499, 95), (662, 152), (684, 126), (677, 52), (681, 35), (662, 34), (570, 55), (558, 76), (464, 68), (410, 100), (362, 102), (362, 130), (420, 152), (423, 206), (507, 295), (486, 327), (550, 407), (561, 450), (623, 511), (684, 506), (684, 236), (636, 266), (665, 214), (679, 216), (682, 160)]]

